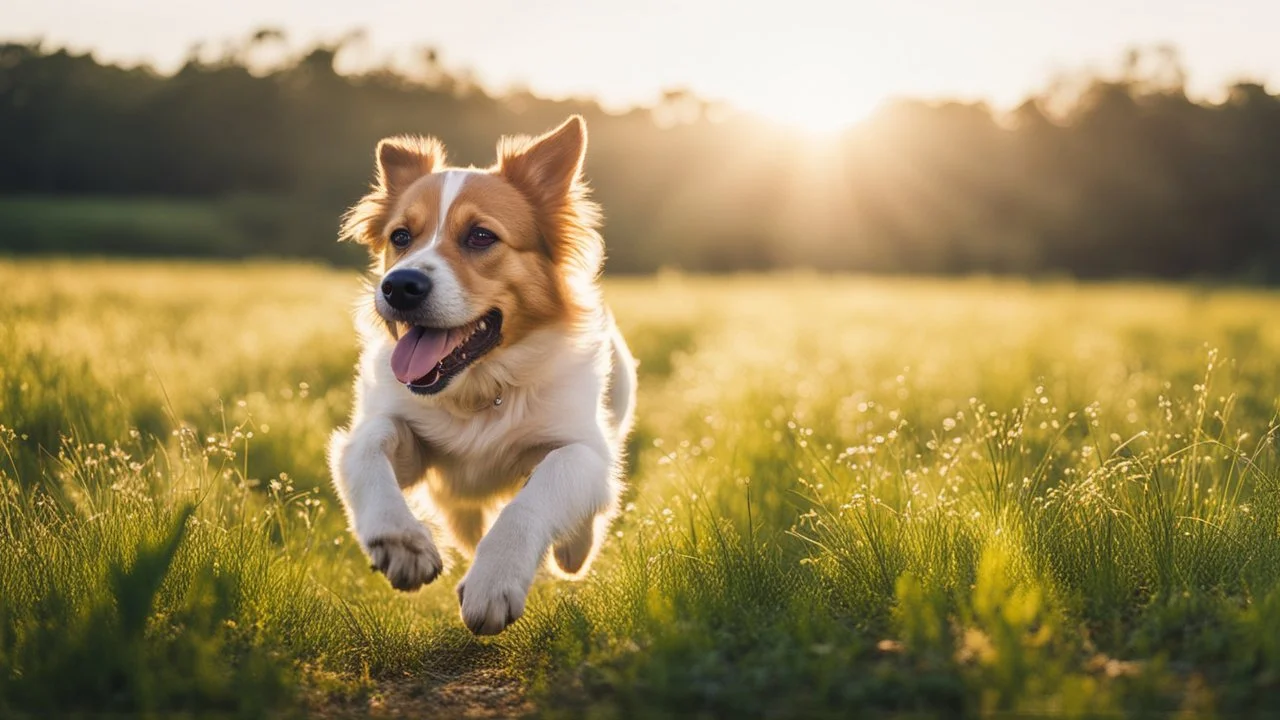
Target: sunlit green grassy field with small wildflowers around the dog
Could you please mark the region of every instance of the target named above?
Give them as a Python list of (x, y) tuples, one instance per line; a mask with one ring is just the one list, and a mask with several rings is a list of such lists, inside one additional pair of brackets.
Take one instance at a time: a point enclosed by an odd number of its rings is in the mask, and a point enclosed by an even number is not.
[(593, 575), (347, 537), (355, 273), (0, 263), (0, 715), (1265, 716), (1280, 296), (662, 277)]

